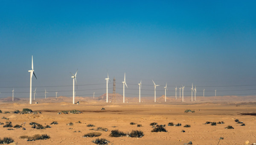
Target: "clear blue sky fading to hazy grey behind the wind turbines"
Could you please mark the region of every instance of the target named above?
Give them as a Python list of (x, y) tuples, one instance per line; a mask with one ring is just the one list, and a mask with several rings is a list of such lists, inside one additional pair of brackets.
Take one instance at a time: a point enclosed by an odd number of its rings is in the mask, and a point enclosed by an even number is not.
[[(256, 95), (256, 1), (0, 1), (0, 97)], [(179, 89), (177, 89), (179, 90)], [(177, 92), (178, 94), (178, 92)]]

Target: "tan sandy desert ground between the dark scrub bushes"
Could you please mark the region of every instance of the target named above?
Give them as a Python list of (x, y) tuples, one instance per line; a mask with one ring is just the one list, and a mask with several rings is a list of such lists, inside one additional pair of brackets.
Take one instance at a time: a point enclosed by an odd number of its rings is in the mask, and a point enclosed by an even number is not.
[[(191, 99), (191, 97), (190, 97)], [(197, 102), (186, 102), (178, 100), (168, 100), (168, 102), (147, 102), (143, 103), (121, 103), (113, 105), (99, 101), (81, 102), (72, 104), (71, 102), (49, 103), (46, 100), (38, 101), (38, 104), (28, 104), (28, 102), (1, 102), (0, 122), (6, 124), (9, 118), (12, 125), (23, 123), (26, 130), (16, 129), (7, 130), (0, 125), (0, 138), (12, 137), (20, 145), (95, 145), (92, 141), (97, 137), (84, 138), (85, 133), (95, 132), (91, 128), (108, 128), (108, 131), (101, 132), (99, 138), (109, 140), (109, 145), (183, 145), (192, 141), (193, 145), (217, 145), (218, 139), (224, 137), (219, 145), (244, 145), (248, 140), (250, 143), (256, 143), (256, 101), (250, 98), (246, 99), (218, 99), (218, 101), (208, 98), (198, 98)], [(101, 110), (104, 107), (105, 110)], [(14, 110), (29, 108), (33, 111), (40, 111), (41, 114), (14, 114)], [(80, 114), (57, 114), (61, 110), (80, 110)], [(195, 110), (195, 113), (184, 113), (184, 110)], [(4, 114), (5, 111), (10, 113)], [(254, 113), (243, 115), (241, 113)], [(246, 126), (240, 126), (234, 120), (239, 119)], [(57, 121), (58, 125), (50, 125), (51, 128), (38, 130), (31, 128), (30, 122), (37, 122), (42, 125), (49, 125)], [(80, 121), (81, 123), (76, 123)], [(224, 121), (225, 124), (212, 126), (204, 124), (205, 122)], [(24, 122), (26, 124), (24, 125)], [(66, 125), (73, 122), (73, 126)], [(130, 122), (141, 124), (130, 125)], [(157, 122), (159, 125), (166, 125), (168, 132), (151, 132), (153, 129), (149, 124)], [(169, 122), (174, 124), (181, 123), (179, 127), (167, 126)], [(95, 127), (87, 127), (93, 124)], [(184, 125), (191, 125), (190, 128), (184, 128)], [(234, 129), (226, 129), (228, 125)], [(115, 126), (115, 127), (114, 127)], [(70, 129), (72, 128), (72, 129)], [(142, 138), (110, 137), (112, 130), (118, 129), (125, 133), (132, 130), (140, 130), (145, 134)], [(186, 132), (181, 132), (182, 130)], [(76, 131), (76, 132), (74, 132)], [(81, 132), (79, 132), (81, 131)], [(47, 134), (50, 139), (27, 142), (27, 139), (20, 139), (20, 136), (32, 136), (34, 134)]]

